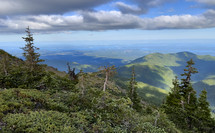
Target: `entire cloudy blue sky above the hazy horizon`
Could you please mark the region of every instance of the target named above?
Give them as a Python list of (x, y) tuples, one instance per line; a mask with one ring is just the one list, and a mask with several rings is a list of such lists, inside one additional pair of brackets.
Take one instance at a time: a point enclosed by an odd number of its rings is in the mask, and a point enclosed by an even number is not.
[(215, 40), (215, 0), (0, 0), (0, 45), (23, 41)]

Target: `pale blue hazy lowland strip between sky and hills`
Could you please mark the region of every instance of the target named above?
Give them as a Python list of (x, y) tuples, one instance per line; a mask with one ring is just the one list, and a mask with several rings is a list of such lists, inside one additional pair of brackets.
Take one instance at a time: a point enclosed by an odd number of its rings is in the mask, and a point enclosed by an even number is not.
[[(21, 56), (24, 42), (0, 42), (0, 48), (15, 56)], [(74, 41), (74, 42), (35, 42), (40, 53), (55, 55), (56, 53), (81, 51), (93, 56), (116, 58), (126, 54), (133, 54), (138, 58), (150, 53), (176, 53), (189, 51), (199, 55), (215, 56), (215, 40), (150, 40), (150, 41)], [(108, 55), (109, 52), (115, 55)], [(117, 52), (118, 51), (118, 52)], [(117, 55), (117, 53), (119, 55)]]

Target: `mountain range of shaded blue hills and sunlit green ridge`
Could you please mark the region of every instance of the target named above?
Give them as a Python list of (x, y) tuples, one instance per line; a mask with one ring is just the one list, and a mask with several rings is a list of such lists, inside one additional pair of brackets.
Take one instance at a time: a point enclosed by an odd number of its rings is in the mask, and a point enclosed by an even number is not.
[[(1, 51), (0, 53), (3, 53)], [(115, 81), (119, 86), (126, 88), (131, 77), (131, 69), (134, 66), (136, 80), (138, 82), (138, 92), (147, 102), (161, 104), (166, 94), (172, 87), (172, 79), (180, 74), (186, 66), (186, 62), (193, 59), (194, 67), (198, 72), (192, 75), (192, 83), (197, 94), (206, 89), (208, 92), (208, 101), (211, 106), (215, 106), (215, 57), (210, 55), (196, 55), (190, 52), (179, 52), (171, 54), (153, 53), (126, 63), (122, 59), (113, 59), (105, 57), (87, 56), (80, 52), (70, 54), (57, 54), (41, 56), (46, 60), (49, 66), (47, 70), (53, 71), (58, 75), (64, 76), (67, 62), (72, 62), (72, 67), (84, 72), (97, 71), (100, 66), (116, 65), (117, 75)], [(13, 57), (14, 58), (14, 57)], [(56, 67), (57, 69), (55, 69)], [(78, 72), (78, 71), (77, 71)]]

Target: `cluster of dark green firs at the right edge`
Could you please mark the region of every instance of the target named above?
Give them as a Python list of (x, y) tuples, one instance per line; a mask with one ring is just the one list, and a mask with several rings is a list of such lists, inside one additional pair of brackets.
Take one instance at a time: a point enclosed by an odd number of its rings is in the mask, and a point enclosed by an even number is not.
[(166, 102), (163, 105), (170, 120), (185, 132), (203, 131), (200, 123), (207, 123), (203, 125), (209, 129), (213, 128), (213, 125), (208, 124), (207, 120), (211, 120), (211, 117), (209, 115), (209, 105), (206, 102), (206, 92), (203, 91), (197, 100), (196, 91), (191, 84), (192, 74), (198, 72), (192, 66), (194, 64), (193, 60), (187, 62), (187, 68), (184, 69), (185, 72), (182, 74), (185, 78), (181, 79), (181, 83), (178, 82), (177, 78), (173, 80), (174, 87), (166, 97)]

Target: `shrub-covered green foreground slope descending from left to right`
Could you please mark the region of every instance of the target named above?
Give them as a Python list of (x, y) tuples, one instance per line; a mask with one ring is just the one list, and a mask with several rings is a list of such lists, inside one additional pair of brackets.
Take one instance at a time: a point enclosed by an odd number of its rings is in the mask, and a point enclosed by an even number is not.
[[(105, 69), (95, 73), (80, 72), (77, 80), (71, 81), (66, 73), (41, 65), (46, 69), (41, 71), (42, 75), (34, 75), (33, 78), (37, 80), (32, 82), (32, 77), (26, 75), (28, 70), (22, 69), (25, 61), (3, 50), (1, 50), (0, 60), (2, 62), (0, 130), (4, 132), (194, 131), (193, 128), (180, 129), (180, 126), (176, 126), (162, 111), (163, 107), (150, 104), (151, 102), (154, 104), (153, 101), (159, 103), (159, 100), (168, 93), (164, 89), (136, 82), (140, 74), (136, 73), (138, 67), (135, 65), (133, 77), (132, 71), (127, 72), (128, 76), (130, 75), (128, 86), (121, 84), (120, 87), (110, 77), (107, 90), (104, 91), (102, 88), (105, 75), (104, 77), (102, 75), (105, 74)], [(8, 68), (6, 75), (4, 64), (6, 64), (5, 68)], [(28, 80), (31, 82), (27, 82)], [(122, 82), (121, 79), (114, 78), (114, 80)], [(132, 86), (136, 89), (141, 87), (144, 89), (133, 90)], [(136, 91), (138, 93), (131, 93)], [(140, 98), (138, 94), (149, 98)], [(159, 98), (156, 100), (152, 95)], [(210, 126), (207, 123), (206, 125)], [(197, 129), (195, 131), (198, 132)], [(200, 128), (199, 131), (211, 132), (212, 130), (207, 127)]]

